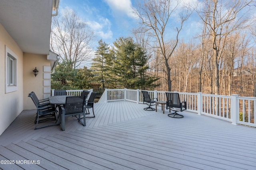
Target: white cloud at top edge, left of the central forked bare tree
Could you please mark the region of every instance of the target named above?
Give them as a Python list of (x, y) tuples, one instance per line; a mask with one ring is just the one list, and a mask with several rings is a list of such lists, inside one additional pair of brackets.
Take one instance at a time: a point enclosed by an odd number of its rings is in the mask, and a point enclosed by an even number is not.
[(114, 14), (125, 14), (128, 17), (135, 18), (132, 13), (132, 2), (130, 0), (104, 0), (112, 9)]

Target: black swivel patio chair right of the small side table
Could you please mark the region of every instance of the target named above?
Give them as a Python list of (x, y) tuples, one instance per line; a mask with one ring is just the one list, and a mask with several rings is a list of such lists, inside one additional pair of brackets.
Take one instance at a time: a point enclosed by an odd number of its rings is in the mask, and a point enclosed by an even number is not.
[(178, 111), (184, 111), (187, 109), (186, 102), (180, 102), (180, 95), (178, 93), (174, 92), (166, 92), (166, 109), (170, 109), (174, 111), (174, 113), (168, 114), (169, 117), (173, 118), (182, 118), (184, 117), (183, 115), (178, 114)]

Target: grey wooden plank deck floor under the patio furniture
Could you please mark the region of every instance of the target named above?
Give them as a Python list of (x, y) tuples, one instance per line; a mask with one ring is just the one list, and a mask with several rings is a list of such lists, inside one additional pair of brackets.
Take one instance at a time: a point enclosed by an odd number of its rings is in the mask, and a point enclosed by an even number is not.
[(144, 111), (145, 105), (132, 102), (94, 107), (96, 117), (86, 119), (86, 127), (68, 117), (66, 131), (34, 130), (36, 110), (23, 111), (0, 136), (0, 160), (18, 164), (1, 162), (0, 168), (256, 169), (256, 128), (186, 111), (174, 119), (161, 106)]

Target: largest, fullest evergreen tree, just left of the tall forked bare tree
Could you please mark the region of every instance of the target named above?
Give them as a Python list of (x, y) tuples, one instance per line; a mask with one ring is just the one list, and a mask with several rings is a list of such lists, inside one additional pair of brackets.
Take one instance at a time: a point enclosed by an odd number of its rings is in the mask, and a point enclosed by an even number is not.
[(152, 86), (157, 78), (146, 74), (148, 56), (132, 37), (120, 37), (114, 42), (114, 71), (118, 75), (120, 88), (145, 89)]

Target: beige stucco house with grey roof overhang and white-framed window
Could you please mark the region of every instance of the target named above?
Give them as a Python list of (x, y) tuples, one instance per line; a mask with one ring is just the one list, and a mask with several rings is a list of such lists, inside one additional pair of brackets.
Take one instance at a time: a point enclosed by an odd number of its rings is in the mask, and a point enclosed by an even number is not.
[[(58, 55), (50, 52), (52, 16), (59, 0), (0, 2), (0, 135), (25, 109), (35, 109), (28, 94), (50, 96), (50, 73)], [(33, 75), (37, 69), (38, 75)]]

